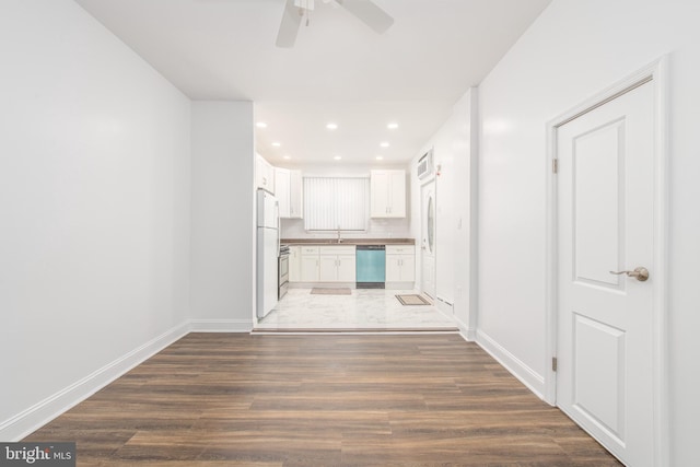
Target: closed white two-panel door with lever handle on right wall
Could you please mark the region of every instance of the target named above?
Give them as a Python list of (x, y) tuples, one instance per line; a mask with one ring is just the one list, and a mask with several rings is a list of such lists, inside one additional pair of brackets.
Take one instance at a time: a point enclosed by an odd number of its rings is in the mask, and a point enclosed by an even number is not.
[(654, 112), (649, 82), (557, 130), (557, 405), (635, 467), (654, 462)]

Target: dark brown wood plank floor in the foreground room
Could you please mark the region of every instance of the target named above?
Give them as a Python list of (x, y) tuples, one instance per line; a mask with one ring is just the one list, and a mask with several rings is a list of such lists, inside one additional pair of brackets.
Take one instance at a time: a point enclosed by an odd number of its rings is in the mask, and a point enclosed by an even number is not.
[(79, 466), (619, 466), (457, 335), (190, 334), (25, 441)]

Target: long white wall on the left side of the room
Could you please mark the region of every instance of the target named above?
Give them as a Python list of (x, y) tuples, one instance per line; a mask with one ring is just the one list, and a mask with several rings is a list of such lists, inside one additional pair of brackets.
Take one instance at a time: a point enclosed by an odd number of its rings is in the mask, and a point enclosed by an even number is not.
[(4, 441), (184, 331), (190, 103), (71, 0), (0, 10)]

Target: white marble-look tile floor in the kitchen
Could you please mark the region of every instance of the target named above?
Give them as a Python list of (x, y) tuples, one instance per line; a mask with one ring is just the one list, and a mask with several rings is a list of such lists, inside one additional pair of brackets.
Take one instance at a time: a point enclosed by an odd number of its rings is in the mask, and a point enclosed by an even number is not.
[(351, 295), (312, 295), (311, 289), (290, 289), (256, 330), (457, 330), (435, 306), (405, 306), (395, 296), (409, 293), (417, 292), (352, 289)]

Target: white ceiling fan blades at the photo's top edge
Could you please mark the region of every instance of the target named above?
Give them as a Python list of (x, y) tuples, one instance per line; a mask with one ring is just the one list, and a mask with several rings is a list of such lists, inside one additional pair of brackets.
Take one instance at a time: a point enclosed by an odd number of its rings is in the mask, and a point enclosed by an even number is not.
[[(371, 0), (323, 0), (324, 3), (331, 1), (348, 10), (377, 34), (383, 34), (394, 24), (394, 19)], [(313, 10), (314, 0), (287, 0), (276, 45), (282, 48), (294, 47), (302, 20), (306, 17), (308, 25), (308, 14)]]

